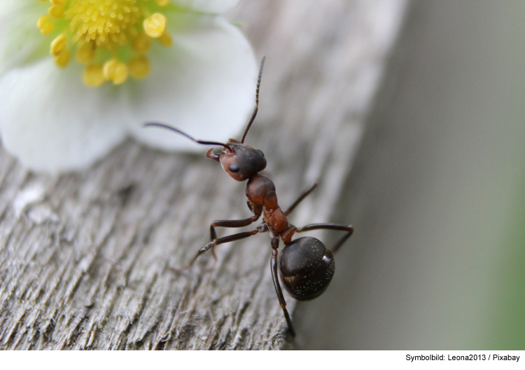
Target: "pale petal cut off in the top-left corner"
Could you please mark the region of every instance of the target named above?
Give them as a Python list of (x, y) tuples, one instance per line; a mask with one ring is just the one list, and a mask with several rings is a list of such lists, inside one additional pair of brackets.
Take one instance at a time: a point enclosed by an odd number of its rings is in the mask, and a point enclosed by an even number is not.
[[(46, 4), (35, 0), (0, 2), (0, 76), (20, 65), (45, 43), (36, 20), (47, 13)], [(49, 44), (49, 41), (48, 41)]]

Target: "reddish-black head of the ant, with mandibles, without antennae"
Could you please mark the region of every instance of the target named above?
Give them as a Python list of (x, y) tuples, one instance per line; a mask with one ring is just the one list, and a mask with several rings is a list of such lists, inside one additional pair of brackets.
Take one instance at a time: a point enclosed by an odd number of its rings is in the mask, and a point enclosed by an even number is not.
[(266, 158), (262, 151), (235, 139), (228, 140), (221, 154), (210, 149), (206, 156), (221, 163), (223, 170), (237, 181), (249, 179), (266, 168)]

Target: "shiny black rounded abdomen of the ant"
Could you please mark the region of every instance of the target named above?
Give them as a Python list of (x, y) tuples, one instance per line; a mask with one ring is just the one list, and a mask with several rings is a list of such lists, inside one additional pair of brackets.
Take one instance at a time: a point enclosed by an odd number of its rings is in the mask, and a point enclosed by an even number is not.
[(320, 296), (330, 284), (335, 271), (332, 252), (321, 240), (306, 236), (292, 240), (281, 252), (281, 281), (297, 301)]

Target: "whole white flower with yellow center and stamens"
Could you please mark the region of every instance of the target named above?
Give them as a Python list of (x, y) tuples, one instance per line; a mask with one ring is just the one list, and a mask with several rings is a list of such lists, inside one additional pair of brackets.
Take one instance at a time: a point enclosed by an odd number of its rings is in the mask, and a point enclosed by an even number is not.
[[(1, 0), (0, 134), (32, 170), (76, 170), (132, 135), (165, 150), (226, 141), (253, 108), (257, 64), (217, 15), (237, 0)], [(213, 13), (212, 13), (213, 12)]]

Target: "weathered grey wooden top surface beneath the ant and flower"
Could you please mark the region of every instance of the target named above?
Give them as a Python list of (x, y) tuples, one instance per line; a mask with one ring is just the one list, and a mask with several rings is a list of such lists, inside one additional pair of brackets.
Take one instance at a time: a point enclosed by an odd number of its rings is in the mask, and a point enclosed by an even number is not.
[[(265, 152), (282, 207), (319, 184), (293, 224), (330, 220), (406, 8), (267, 0), (228, 14), (267, 56), (246, 142)], [(59, 177), (28, 172), (1, 151), (0, 348), (286, 348), (267, 234), (217, 247), (215, 264), (203, 256), (174, 270), (207, 243), (212, 220), (250, 215), (244, 183), (205, 151), (126, 142), (90, 170)]]

